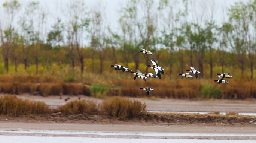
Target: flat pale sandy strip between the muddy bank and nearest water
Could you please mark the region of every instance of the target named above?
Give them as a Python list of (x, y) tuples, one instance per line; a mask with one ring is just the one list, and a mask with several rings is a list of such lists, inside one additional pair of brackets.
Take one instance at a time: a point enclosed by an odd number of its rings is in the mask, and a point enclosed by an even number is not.
[[(29, 133), (22, 131), (48, 130), (56, 133)], [(12, 131), (12, 132), (10, 132)], [(18, 131), (18, 132), (15, 132)], [(60, 131), (89, 131), (120, 133), (118, 135), (99, 134), (68, 134)], [(124, 133), (168, 133), (164, 136), (125, 135)], [(172, 133), (174, 133), (172, 135)], [(189, 133), (189, 136), (179, 136), (179, 133)], [(124, 134), (124, 135), (122, 135)], [(193, 136), (202, 134), (202, 136)], [(205, 134), (205, 135), (204, 135)], [(216, 134), (216, 136), (207, 134)], [(237, 134), (237, 136), (220, 136), (218, 134)], [(241, 136), (239, 136), (241, 134)], [(243, 134), (249, 134), (244, 136)], [(75, 124), (75, 123), (13, 123), (1, 122), (0, 135), (2, 136), (54, 136), (54, 137), (99, 137), (99, 138), (143, 138), (143, 139), (218, 139), (218, 140), (256, 140), (256, 126), (209, 126), (209, 125), (147, 125), (147, 124)]]

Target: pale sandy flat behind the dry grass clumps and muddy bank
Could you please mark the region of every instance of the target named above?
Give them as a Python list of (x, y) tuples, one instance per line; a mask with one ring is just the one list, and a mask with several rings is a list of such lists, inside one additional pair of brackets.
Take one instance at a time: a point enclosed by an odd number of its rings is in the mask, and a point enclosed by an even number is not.
[[(58, 105), (64, 105), (64, 99), (70, 97), (70, 100), (78, 99), (78, 96), (33, 96), (33, 95), (17, 95), (19, 98), (33, 99), (36, 101), (44, 101), (53, 108)], [(88, 96), (79, 96), (81, 99), (101, 102), (103, 99), (92, 98)], [(159, 101), (131, 98), (141, 102), (145, 102), (148, 111), (184, 111), (184, 112), (256, 112), (256, 100), (176, 100), (176, 99), (160, 99)]]

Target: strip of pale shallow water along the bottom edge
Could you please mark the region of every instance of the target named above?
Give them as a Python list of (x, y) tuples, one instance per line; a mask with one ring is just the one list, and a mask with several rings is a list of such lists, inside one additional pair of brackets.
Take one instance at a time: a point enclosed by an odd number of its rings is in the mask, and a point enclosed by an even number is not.
[(0, 136), (2, 143), (255, 143), (254, 140), (116, 139), (91, 137)]

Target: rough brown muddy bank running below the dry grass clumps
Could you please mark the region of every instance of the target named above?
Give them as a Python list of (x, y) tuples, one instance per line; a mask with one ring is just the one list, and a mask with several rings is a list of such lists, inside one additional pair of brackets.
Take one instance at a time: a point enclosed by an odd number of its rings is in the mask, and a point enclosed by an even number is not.
[(255, 116), (216, 115), (216, 114), (178, 114), (146, 113), (130, 120), (118, 120), (105, 115), (88, 114), (40, 114), (18, 115), (17, 117), (0, 116), (1, 122), (56, 122), (56, 123), (137, 123), (137, 124), (173, 124), (173, 125), (255, 125)]

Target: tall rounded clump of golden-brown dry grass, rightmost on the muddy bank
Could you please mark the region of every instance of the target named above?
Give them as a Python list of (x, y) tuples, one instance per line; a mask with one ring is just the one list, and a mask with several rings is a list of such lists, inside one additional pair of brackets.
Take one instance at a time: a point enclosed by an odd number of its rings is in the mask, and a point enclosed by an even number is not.
[(103, 114), (110, 117), (118, 119), (135, 118), (146, 113), (146, 104), (128, 98), (110, 97), (102, 102), (100, 109)]

